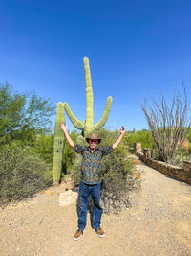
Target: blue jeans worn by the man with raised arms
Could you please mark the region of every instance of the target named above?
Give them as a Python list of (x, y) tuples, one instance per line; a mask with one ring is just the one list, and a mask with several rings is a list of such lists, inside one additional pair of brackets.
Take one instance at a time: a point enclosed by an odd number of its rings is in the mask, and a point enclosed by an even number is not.
[(101, 196), (101, 183), (96, 185), (87, 185), (83, 182), (79, 184), (79, 213), (78, 213), (78, 228), (84, 230), (86, 227), (87, 211), (88, 211), (88, 199), (92, 196), (94, 201), (93, 206), (93, 228), (100, 227), (100, 220), (103, 209), (99, 204)]

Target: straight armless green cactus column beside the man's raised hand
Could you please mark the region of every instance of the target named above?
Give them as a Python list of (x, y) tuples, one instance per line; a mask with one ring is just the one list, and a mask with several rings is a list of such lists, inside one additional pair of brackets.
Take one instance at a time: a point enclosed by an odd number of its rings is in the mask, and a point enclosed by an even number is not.
[(58, 184), (62, 174), (62, 161), (64, 151), (64, 132), (61, 122), (65, 122), (63, 103), (57, 104), (53, 142), (53, 184)]

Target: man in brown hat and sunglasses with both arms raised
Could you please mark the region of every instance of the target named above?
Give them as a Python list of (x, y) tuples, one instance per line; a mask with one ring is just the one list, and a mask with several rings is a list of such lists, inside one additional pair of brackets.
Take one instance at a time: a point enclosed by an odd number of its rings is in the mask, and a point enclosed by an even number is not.
[(79, 214), (78, 214), (78, 229), (74, 234), (74, 240), (78, 240), (83, 235), (83, 230), (86, 227), (87, 206), (89, 195), (94, 201), (93, 206), (93, 228), (98, 237), (104, 237), (105, 232), (100, 227), (100, 220), (103, 209), (99, 201), (101, 196), (101, 159), (103, 155), (111, 153), (115, 150), (125, 134), (125, 128), (122, 126), (120, 136), (113, 146), (97, 147), (101, 139), (97, 138), (97, 134), (93, 133), (90, 138), (86, 138), (89, 147), (74, 144), (71, 139), (67, 126), (62, 122), (61, 128), (64, 131), (65, 137), (69, 145), (75, 152), (82, 155), (81, 180), (79, 184)]

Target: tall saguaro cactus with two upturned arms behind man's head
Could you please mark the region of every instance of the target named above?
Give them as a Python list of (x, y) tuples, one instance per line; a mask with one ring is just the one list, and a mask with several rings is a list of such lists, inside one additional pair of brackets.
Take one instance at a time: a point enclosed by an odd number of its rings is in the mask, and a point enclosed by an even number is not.
[(107, 104), (100, 121), (94, 125), (94, 110), (93, 110), (93, 89), (90, 74), (89, 59), (83, 58), (85, 83), (86, 83), (86, 119), (81, 122), (75, 116), (67, 103), (64, 103), (64, 109), (66, 110), (71, 122), (75, 128), (83, 130), (84, 137), (89, 136), (96, 129), (102, 128), (109, 116), (110, 108), (112, 105), (112, 97), (107, 98)]

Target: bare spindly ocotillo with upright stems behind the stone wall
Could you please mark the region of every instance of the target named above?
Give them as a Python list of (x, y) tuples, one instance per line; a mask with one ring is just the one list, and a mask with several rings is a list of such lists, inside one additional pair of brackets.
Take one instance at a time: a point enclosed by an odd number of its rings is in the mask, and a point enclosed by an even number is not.
[(178, 93), (174, 94), (171, 105), (167, 104), (163, 93), (160, 103), (153, 98), (153, 104), (146, 99), (144, 103), (140, 103), (159, 151), (159, 158), (164, 162), (169, 162), (177, 156), (191, 127), (183, 83), (182, 88), (183, 95), (179, 89)]

